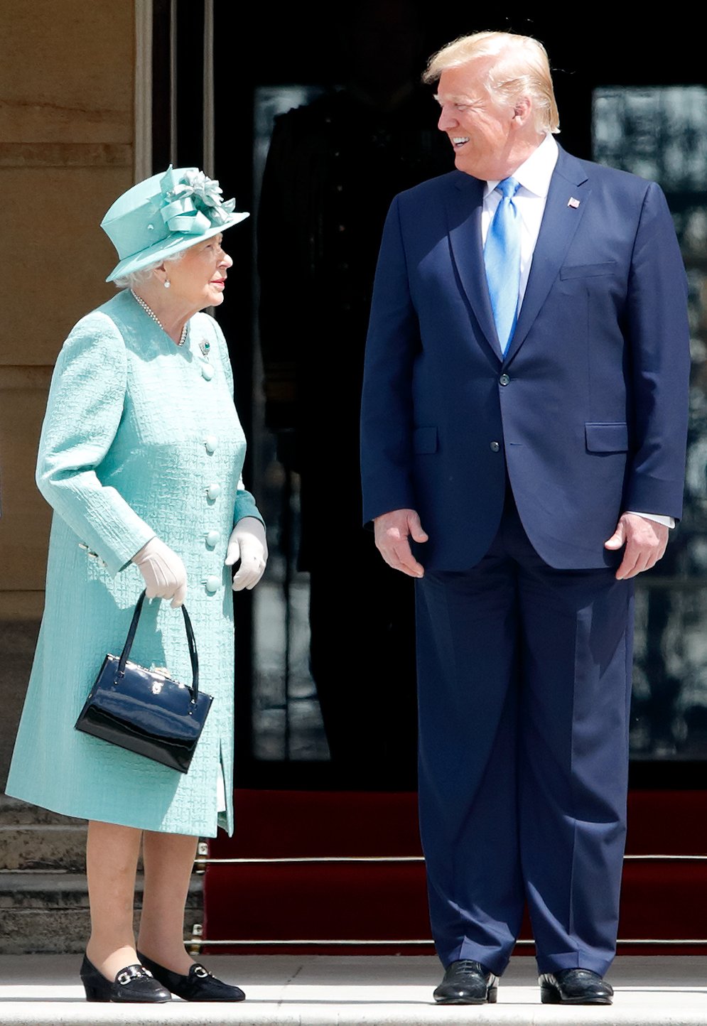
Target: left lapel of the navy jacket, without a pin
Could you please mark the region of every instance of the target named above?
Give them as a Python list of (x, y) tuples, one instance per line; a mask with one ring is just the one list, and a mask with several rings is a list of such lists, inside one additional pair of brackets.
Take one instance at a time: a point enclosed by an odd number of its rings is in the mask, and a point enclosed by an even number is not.
[(447, 190), (445, 205), (451, 259), (462, 287), (494, 355), (502, 359), (496, 333), (481, 247), (481, 206), (484, 183), (460, 172)]

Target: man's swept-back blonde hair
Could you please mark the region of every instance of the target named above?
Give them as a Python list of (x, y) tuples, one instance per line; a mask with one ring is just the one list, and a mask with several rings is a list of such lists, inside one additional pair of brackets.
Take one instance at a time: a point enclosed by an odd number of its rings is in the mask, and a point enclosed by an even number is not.
[(479, 57), (497, 57), (488, 70), (486, 88), (501, 104), (514, 104), (519, 96), (533, 101), (539, 131), (559, 131), (559, 115), (545, 47), (532, 36), (510, 32), (475, 32), (442, 46), (427, 63), (423, 81), (435, 83), (447, 68), (460, 68)]

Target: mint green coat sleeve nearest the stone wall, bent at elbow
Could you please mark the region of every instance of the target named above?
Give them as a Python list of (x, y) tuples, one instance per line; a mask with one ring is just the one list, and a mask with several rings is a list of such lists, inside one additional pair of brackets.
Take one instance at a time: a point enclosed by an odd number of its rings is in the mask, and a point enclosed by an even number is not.
[(112, 576), (155, 537), (101, 465), (123, 412), (127, 360), (113, 321), (93, 312), (65, 342), (54, 367), (37, 460), (37, 486)]

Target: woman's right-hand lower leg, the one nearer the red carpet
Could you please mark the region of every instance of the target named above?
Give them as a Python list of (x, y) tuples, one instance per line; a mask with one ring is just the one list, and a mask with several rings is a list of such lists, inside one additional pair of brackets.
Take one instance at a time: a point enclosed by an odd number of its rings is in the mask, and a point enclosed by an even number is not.
[(184, 908), (198, 839), (149, 830), (143, 837), (145, 891), (138, 948), (165, 969), (184, 975), (194, 964), (184, 946)]

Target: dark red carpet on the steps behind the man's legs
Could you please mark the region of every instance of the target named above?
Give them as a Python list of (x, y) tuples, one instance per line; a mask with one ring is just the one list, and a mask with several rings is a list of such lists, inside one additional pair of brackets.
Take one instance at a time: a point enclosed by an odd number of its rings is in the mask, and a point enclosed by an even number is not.
[[(209, 841), (211, 859), (420, 856), (417, 795), (245, 791), (234, 794), (236, 830)], [(629, 855), (707, 854), (707, 791), (636, 791), (629, 797)], [(422, 862), (284, 862), (208, 865), (205, 952), (432, 954), (429, 945), (242, 945), (239, 941), (426, 940)], [(707, 937), (707, 862), (627, 859), (623, 939)], [(531, 938), (526, 922), (521, 934)], [(232, 945), (209, 947), (209, 941)], [(622, 954), (704, 954), (707, 944), (622, 944)], [(532, 945), (518, 953), (533, 954)]]

